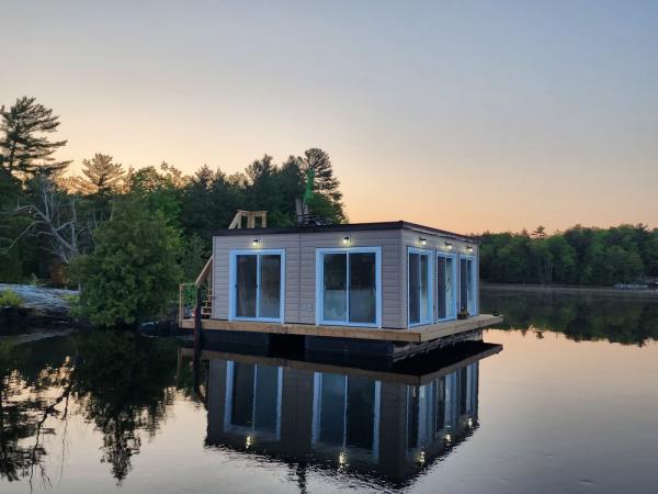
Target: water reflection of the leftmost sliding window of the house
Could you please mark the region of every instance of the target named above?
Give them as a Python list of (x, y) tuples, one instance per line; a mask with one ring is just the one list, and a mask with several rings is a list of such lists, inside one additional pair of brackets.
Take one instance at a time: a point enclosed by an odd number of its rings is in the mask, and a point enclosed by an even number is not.
[(280, 367), (227, 362), (225, 427), (279, 437), (282, 375)]

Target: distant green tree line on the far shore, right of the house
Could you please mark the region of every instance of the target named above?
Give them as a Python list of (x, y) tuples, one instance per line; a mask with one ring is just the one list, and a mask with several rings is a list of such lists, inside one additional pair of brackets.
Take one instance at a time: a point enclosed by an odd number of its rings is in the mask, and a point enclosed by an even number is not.
[(643, 224), (553, 235), (540, 226), (480, 239), (480, 278), (490, 282), (612, 285), (658, 277), (658, 228)]

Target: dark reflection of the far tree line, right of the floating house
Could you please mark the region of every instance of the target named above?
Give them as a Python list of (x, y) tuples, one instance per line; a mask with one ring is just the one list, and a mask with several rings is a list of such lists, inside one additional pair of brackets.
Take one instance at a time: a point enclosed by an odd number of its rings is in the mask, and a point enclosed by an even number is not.
[(655, 300), (570, 295), (555, 292), (494, 292), (481, 294), (483, 312), (504, 316), (506, 328), (564, 333), (576, 341), (605, 339), (644, 345), (658, 339)]

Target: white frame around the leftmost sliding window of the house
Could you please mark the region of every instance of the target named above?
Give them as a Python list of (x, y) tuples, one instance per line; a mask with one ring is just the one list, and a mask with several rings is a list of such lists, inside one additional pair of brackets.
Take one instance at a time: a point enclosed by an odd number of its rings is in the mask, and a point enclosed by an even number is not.
[[(256, 314), (257, 317), (236, 316), (238, 256), (257, 256), (256, 281)], [(279, 295), (279, 317), (258, 317), (260, 302), (260, 256), (281, 256), (281, 293)], [(230, 265), (228, 272), (228, 321), (259, 321), (263, 323), (283, 323), (285, 317), (285, 250), (284, 249), (239, 249), (229, 251)]]

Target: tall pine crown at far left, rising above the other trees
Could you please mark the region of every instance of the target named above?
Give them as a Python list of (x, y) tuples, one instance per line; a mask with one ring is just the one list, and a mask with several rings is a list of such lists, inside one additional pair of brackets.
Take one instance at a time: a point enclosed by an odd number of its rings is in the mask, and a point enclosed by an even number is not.
[(9, 111), (0, 108), (0, 167), (23, 181), (39, 173), (52, 175), (70, 164), (53, 157), (66, 145), (66, 141), (48, 138), (57, 131), (59, 117), (35, 101), (23, 97)]

